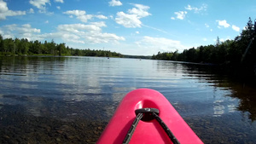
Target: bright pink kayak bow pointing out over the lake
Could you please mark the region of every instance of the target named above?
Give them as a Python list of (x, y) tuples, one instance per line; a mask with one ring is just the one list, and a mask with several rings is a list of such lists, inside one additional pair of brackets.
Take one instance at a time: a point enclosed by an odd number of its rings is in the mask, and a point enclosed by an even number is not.
[(203, 142), (164, 95), (153, 89), (136, 89), (125, 95), (119, 103), (96, 143)]

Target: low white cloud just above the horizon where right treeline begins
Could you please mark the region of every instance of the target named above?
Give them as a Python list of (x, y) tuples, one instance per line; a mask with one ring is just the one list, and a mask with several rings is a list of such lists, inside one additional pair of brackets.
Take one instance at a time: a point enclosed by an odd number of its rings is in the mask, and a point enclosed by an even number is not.
[(182, 51), (187, 49), (179, 41), (168, 39), (165, 37), (143, 37), (142, 40), (136, 42), (139, 49), (143, 49), (145, 55), (157, 54), (160, 52), (167, 51)]

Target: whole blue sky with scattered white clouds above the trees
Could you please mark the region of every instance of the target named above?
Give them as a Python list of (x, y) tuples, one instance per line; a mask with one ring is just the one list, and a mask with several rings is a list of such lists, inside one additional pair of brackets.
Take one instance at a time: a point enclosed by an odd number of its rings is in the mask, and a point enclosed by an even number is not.
[(234, 39), (255, 0), (0, 0), (0, 34), (153, 55)]

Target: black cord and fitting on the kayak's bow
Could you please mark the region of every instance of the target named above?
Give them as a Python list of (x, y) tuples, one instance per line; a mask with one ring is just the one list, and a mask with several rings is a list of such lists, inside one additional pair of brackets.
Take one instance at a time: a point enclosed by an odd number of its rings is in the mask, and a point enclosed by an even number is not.
[(137, 117), (134, 119), (133, 123), (131, 124), (130, 130), (127, 132), (123, 144), (128, 144), (131, 141), (131, 136), (133, 135), (137, 124), (140, 120), (143, 121), (150, 121), (156, 119), (156, 121), (160, 124), (160, 126), (165, 130), (168, 137), (171, 139), (173, 144), (180, 144), (177, 141), (177, 138), (172, 134), (172, 131), (167, 127), (164, 121), (159, 117), (159, 110), (156, 108), (141, 108), (135, 111)]

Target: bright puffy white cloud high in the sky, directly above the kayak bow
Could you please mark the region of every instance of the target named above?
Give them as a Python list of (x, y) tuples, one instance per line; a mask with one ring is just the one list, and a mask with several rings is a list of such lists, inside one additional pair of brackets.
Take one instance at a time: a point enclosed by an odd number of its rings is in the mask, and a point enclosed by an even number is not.
[(133, 4), (136, 8), (128, 9), (128, 14), (118, 12), (115, 18), (116, 23), (125, 27), (141, 27), (143, 17), (151, 15), (148, 13), (148, 6), (143, 4)]

